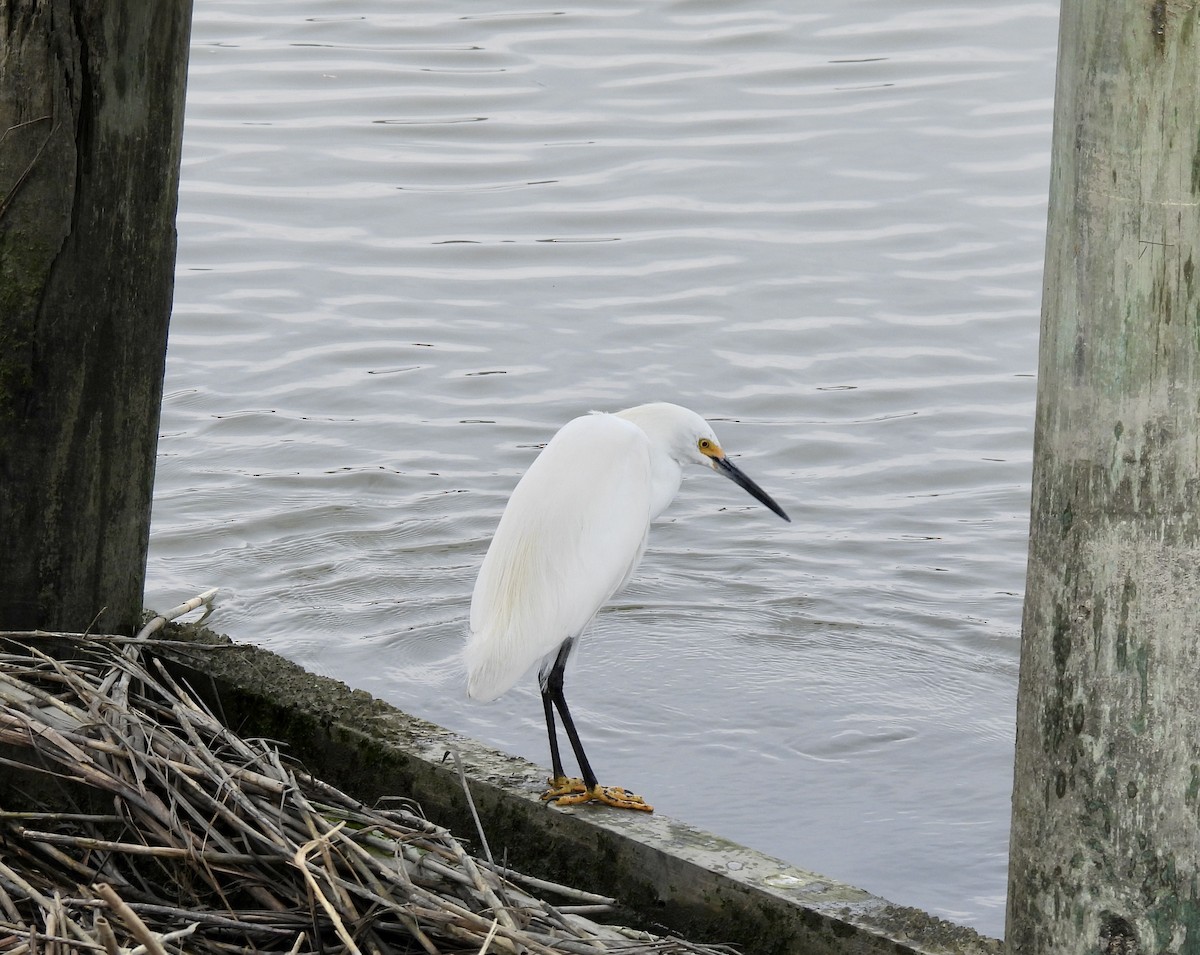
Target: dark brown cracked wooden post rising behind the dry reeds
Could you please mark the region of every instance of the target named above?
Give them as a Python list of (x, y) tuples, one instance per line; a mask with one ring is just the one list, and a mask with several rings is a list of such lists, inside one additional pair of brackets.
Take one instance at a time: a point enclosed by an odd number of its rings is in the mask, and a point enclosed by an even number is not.
[(0, 625), (142, 613), (191, 0), (0, 0)]

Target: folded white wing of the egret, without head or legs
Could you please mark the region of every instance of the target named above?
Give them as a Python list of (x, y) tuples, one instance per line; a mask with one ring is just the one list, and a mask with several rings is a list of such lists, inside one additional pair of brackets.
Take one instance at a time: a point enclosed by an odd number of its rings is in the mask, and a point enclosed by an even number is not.
[(475, 582), (468, 692), (494, 699), (578, 636), (646, 547), (648, 439), (613, 415), (568, 422), (517, 483)]

